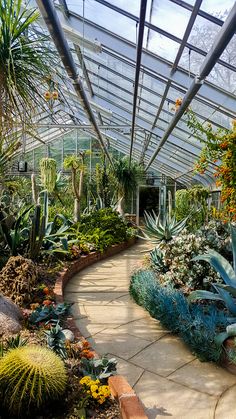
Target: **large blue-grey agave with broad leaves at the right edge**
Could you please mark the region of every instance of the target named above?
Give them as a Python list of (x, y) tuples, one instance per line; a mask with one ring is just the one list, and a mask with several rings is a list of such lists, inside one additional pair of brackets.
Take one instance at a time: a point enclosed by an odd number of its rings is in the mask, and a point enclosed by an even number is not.
[[(222, 301), (229, 312), (236, 316), (236, 227), (230, 226), (233, 250), (233, 267), (223, 256), (210, 249), (206, 254), (196, 256), (193, 260), (204, 260), (220, 274), (224, 284), (212, 284), (216, 292), (197, 290), (189, 296), (189, 301), (216, 300)], [(235, 319), (234, 319), (235, 320)]]

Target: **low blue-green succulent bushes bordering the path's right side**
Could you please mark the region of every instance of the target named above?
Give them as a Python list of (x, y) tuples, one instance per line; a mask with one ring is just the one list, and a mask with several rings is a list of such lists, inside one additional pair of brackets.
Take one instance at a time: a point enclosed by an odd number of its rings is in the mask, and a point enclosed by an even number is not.
[(130, 294), (164, 327), (178, 333), (201, 360), (219, 361), (222, 348), (215, 337), (225, 330), (227, 313), (214, 304), (189, 304), (181, 291), (162, 286), (152, 271), (140, 270), (132, 276)]

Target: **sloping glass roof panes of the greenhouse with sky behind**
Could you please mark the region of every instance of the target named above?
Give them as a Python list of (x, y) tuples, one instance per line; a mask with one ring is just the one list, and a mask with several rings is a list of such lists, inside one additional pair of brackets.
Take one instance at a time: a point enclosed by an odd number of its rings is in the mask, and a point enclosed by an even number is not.
[[(63, 3), (69, 10), (67, 15)], [(203, 0), (194, 16), (193, 0), (147, 1), (133, 158), (149, 162), (175, 117), (176, 99), (183, 98), (190, 88), (234, 3)], [(102, 135), (114, 148), (129, 154), (140, 0), (56, 0), (54, 5)], [(191, 16), (195, 18), (190, 25)], [(41, 25), (45, 30), (43, 19)], [(198, 118), (216, 128), (229, 128), (232, 118), (236, 118), (235, 50), (236, 35), (191, 102)], [(78, 137), (94, 136), (69, 78), (61, 83), (60, 89), (61, 103), (57, 112), (54, 109), (53, 117), (46, 111), (44, 118), (36, 117), (41, 140), (53, 142), (70, 131), (77, 132)], [(73, 130), (75, 125), (83, 129)], [(27, 141), (28, 149), (41, 145), (36, 139)], [(212, 167), (205, 175), (193, 173), (201, 147), (189, 131), (184, 115), (151, 167), (183, 183), (195, 180), (213, 183)]]

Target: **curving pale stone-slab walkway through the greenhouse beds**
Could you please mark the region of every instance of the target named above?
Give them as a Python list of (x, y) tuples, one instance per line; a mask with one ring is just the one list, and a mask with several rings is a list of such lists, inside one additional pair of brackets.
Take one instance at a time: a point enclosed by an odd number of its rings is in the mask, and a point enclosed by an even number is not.
[(70, 280), (65, 300), (75, 303), (78, 328), (99, 354), (117, 358), (148, 418), (235, 419), (236, 376), (198, 361), (130, 300), (130, 274), (146, 249), (141, 242)]

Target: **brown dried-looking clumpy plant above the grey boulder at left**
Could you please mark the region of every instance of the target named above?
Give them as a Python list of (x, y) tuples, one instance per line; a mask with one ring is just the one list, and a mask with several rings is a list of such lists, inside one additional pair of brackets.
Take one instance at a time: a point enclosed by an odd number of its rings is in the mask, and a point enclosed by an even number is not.
[(0, 293), (22, 305), (30, 300), (36, 285), (37, 268), (30, 259), (12, 256), (0, 272)]

